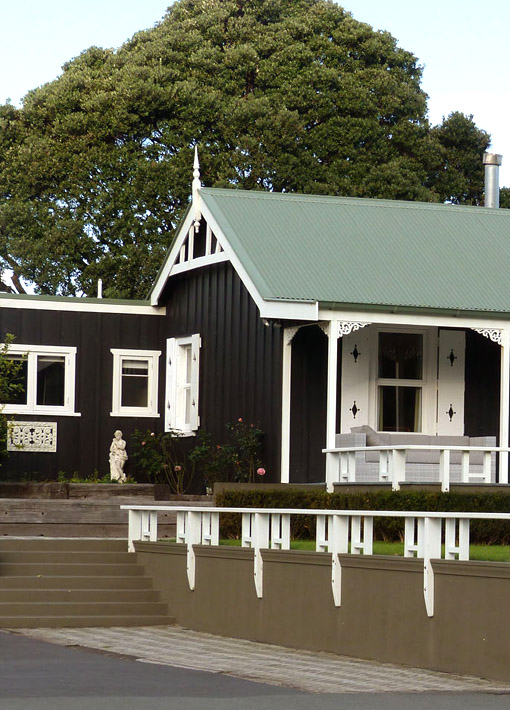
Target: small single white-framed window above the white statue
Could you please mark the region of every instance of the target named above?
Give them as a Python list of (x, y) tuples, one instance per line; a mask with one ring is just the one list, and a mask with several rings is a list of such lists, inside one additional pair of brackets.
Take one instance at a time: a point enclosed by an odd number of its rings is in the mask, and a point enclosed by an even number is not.
[(111, 350), (112, 416), (158, 417), (159, 350)]

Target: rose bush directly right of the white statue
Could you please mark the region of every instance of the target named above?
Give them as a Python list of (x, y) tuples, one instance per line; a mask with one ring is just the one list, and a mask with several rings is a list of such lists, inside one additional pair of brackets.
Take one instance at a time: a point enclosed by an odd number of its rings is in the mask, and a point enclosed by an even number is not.
[(131, 437), (131, 460), (135, 471), (140, 471), (152, 483), (166, 483), (176, 494), (187, 491), (192, 473), (182, 447), (179, 432), (156, 434), (150, 429), (136, 431)]

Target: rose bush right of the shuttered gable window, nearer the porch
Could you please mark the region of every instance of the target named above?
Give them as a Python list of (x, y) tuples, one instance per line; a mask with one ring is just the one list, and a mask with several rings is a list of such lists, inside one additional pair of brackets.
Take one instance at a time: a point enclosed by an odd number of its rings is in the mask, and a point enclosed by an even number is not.
[(254, 424), (239, 418), (235, 424), (225, 426), (226, 438), (221, 444), (213, 442), (211, 434), (201, 430), (189, 460), (212, 487), (215, 481), (253, 483), (265, 475), (260, 461), (263, 432)]

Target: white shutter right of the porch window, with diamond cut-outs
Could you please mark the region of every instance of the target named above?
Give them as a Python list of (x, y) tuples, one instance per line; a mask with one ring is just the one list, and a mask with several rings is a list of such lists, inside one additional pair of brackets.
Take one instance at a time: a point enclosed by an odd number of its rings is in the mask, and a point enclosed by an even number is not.
[(437, 433), (440, 436), (464, 435), (465, 350), (463, 330), (439, 330)]

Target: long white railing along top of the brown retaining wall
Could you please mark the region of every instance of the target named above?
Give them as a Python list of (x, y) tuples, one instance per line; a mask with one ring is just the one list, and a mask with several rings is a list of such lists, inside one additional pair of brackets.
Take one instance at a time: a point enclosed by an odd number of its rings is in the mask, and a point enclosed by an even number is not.
[[(404, 557), (423, 559), (423, 594), (429, 616), (434, 615), (434, 570), (431, 560), (469, 560), (469, 521), (508, 520), (510, 513), (445, 513), (380, 510), (309, 510), (280, 508), (200, 508), (180, 506), (122, 505), (129, 511), (128, 549), (137, 540), (157, 540), (158, 511), (177, 514), (176, 542), (187, 546), (187, 574), (195, 588), (195, 545), (218, 545), (220, 516), (241, 515), (241, 544), (254, 551), (253, 576), (257, 596), (262, 598), (262, 550), (290, 549), (292, 515), (316, 518), (318, 552), (331, 554), (331, 586), (336, 606), (342, 600), (342, 554), (371, 555), (376, 518), (404, 518)], [(444, 545), (444, 548), (442, 547)]]

